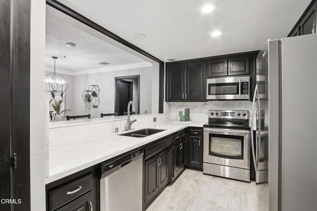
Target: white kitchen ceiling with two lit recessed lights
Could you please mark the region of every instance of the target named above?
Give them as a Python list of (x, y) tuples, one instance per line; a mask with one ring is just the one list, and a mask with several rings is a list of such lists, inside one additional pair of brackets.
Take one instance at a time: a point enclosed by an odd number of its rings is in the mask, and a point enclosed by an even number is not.
[[(260, 50), (267, 39), (286, 37), (310, 1), (59, 0), (163, 61)], [(216, 8), (202, 13), (207, 3)], [(213, 30), (222, 35), (211, 37)]]

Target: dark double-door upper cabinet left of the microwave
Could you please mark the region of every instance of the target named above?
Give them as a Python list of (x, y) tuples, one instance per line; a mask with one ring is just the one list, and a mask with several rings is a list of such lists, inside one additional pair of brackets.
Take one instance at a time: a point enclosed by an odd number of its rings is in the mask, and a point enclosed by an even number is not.
[(166, 65), (166, 102), (205, 102), (204, 61), (168, 63)]

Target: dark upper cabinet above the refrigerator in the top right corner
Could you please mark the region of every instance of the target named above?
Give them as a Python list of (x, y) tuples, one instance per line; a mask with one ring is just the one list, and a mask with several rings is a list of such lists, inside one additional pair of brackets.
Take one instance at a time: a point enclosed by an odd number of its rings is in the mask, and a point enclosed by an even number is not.
[(312, 0), (287, 37), (316, 33), (317, 1)]

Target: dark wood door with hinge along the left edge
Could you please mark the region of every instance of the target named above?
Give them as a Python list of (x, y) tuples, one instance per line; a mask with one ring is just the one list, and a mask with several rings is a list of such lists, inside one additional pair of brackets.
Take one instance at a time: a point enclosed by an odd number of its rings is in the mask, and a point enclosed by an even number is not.
[(1, 0), (0, 29), (0, 211), (28, 211), (30, 1)]

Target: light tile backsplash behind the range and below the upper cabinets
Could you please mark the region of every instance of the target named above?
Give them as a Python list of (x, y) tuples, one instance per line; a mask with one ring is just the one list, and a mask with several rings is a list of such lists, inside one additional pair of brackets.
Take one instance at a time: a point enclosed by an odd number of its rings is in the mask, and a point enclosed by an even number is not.
[(249, 110), (251, 114), (252, 102), (250, 101), (208, 101), (208, 102), (166, 102), (165, 114), (170, 120), (179, 121), (179, 111), (190, 108), (190, 117), (193, 121), (208, 121), (208, 110)]

